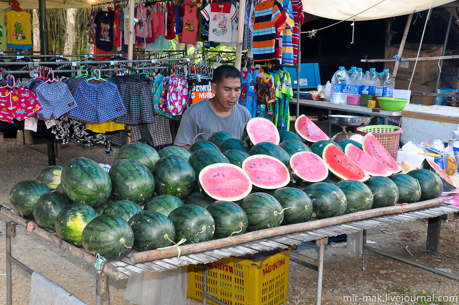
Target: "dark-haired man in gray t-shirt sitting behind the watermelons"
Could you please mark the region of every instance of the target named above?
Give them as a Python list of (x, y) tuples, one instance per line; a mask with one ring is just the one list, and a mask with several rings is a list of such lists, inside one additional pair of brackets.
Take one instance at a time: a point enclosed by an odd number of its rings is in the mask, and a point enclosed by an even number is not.
[(196, 136), (207, 140), (213, 133), (227, 131), (242, 139), (250, 112), (238, 104), (241, 72), (233, 66), (214, 70), (211, 82), (213, 98), (198, 101), (183, 114), (174, 145), (188, 149)]

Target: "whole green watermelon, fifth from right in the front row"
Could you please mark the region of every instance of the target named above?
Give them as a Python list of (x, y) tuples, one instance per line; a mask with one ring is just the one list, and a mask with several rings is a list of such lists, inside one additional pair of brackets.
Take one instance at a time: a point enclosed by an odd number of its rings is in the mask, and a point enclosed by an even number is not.
[(311, 198), (313, 218), (340, 216), (346, 211), (346, 195), (334, 184), (318, 182), (305, 187), (303, 191)]

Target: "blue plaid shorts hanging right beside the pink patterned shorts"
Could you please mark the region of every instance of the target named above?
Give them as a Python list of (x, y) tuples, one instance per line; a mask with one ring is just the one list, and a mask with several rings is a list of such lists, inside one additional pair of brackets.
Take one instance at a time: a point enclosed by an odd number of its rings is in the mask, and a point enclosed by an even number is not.
[(40, 82), (35, 87), (35, 94), (43, 107), (38, 115), (45, 119), (57, 119), (77, 107), (68, 86), (62, 82)]

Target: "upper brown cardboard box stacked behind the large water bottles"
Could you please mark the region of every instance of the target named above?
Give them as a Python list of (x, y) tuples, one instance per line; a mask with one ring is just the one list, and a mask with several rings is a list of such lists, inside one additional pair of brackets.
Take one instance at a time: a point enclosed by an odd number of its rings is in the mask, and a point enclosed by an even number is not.
[[(398, 48), (400, 45), (389, 45), (386, 47), (386, 59), (392, 59), (394, 55), (398, 54)], [(418, 43), (406, 43), (403, 49), (403, 58), (416, 58), (418, 54)], [(421, 47), (419, 58), (422, 57), (434, 57), (441, 56), (443, 45), (437, 44), (425, 44)], [(402, 61), (397, 71), (397, 78), (411, 79), (413, 73), (414, 61)], [(395, 62), (386, 62), (384, 67), (389, 69), (391, 72), (394, 70)], [(413, 82), (418, 84), (424, 84), (426, 82), (433, 81), (437, 78), (438, 74), (438, 61), (435, 60), (424, 60), (418, 61), (416, 64), (416, 71), (414, 73)], [(413, 91), (413, 90), (412, 90)], [(433, 91), (432, 91), (433, 92)]]

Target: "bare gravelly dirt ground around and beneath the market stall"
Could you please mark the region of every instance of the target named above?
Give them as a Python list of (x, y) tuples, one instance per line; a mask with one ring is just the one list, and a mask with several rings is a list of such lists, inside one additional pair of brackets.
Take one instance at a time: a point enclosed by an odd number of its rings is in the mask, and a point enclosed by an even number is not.
[[(33, 148), (33, 149), (31, 149)], [(36, 151), (34, 149), (40, 150)], [(35, 179), (38, 172), (47, 166), (45, 144), (27, 147), (18, 141), (0, 144), (0, 202), (8, 202), (12, 186), (21, 180)], [(116, 153), (116, 149), (114, 151)], [(63, 166), (75, 157), (88, 157), (98, 163), (112, 164), (113, 156), (106, 156), (104, 148), (83, 147), (69, 143), (59, 147), (57, 164)], [(425, 252), (427, 221), (372, 228), (367, 240), (375, 242), (373, 247), (395, 255), (424, 263), (436, 268), (449, 268), (459, 275), (458, 249), (459, 217), (442, 223), (440, 253), (428, 255)], [(5, 267), (5, 219), (0, 217), (0, 287), (6, 287)], [(338, 243), (339, 245), (339, 243)], [(407, 248), (406, 248), (407, 247)], [(303, 244), (299, 250), (317, 257), (317, 247)], [(63, 252), (22, 227), (17, 227), (16, 238), (12, 240), (13, 256), (61, 285), (83, 301), (95, 303), (95, 268)], [(315, 303), (317, 272), (301, 262), (290, 261), (288, 296), (286, 304)], [(110, 303), (129, 303), (124, 300), (127, 280), (110, 279)], [(432, 294), (436, 299), (428, 301)], [(30, 275), (13, 265), (13, 304), (29, 303)], [(352, 297), (353, 296), (353, 297)], [(393, 297), (418, 301), (397, 302)], [(422, 302), (424, 296), (425, 302)], [(446, 297), (440, 302), (439, 296)], [(367, 270), (362, 271), (361, 259), (349, 259), (346, 247), (325, 246), (322, 304), (459, 304), (459, 283), (415, 267), (393, 261), (375, 253), (367, 254)], [(366, 299), (363, 299), (366, 297)], [(392, 298), (391, 298), (392, 297)], [(454, 299), (455, 298), (455, 299)], [(373, 301), (371, 301), (373, 300)], [(421, 301), (419, 301), (421, 300)], [(107, 296), (104, 297), (107, 303)], [(0, 304), (6, 303), (6, 289), (0, 289)], [(188, 304), (199, 304), (188, 300)]]

